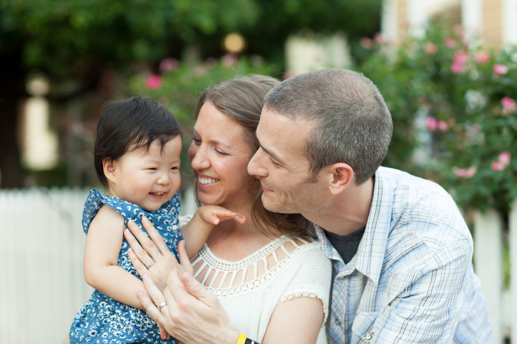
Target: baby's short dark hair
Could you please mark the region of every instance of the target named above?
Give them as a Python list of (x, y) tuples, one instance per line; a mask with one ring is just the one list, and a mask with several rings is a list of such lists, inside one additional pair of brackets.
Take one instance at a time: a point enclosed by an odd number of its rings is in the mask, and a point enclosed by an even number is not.
[(108, 102), (102, 107), (102, 115), (95, 129), (94, 164), (97, 177), (104, 186), (102, 161), (116, 160), (136, 149), (149, 149), (159, 140), (163, 150), (176, 135), (181, 136), (178, 120), (167, 108), (155, 100), (132, 97)]

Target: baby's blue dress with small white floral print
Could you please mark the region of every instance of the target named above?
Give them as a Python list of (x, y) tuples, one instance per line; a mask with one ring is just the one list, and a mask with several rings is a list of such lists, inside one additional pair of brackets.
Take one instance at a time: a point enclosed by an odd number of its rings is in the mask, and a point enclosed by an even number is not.
[[(88, 232), (90, 223), (102, 207), (110, 206), (142, 227), (142, 216), (146, 216), (154, 224), (163, 237), (169, 250), (178, 258), (176, 246), (183, 239), (178, 227), (180, 209), (179, 193), (166, 202), (160, 209), (148, 212), (130, 202), (117, 197), (102, 196), (97, 189), (90, 191), (84, 204), (83, 229)], [(142, 279), (136, 272), (127, 256), (129, 244), (123, 238), (122, 247), (118, 254), (118, 266), (132, 275)], [(117, 302), (98, 290), (81, 307), (72, 322), (70, 343), (153, 343), (172, 344), (174, 338), (162, 340), (155, 321), (145, 310), (134, 308)]]

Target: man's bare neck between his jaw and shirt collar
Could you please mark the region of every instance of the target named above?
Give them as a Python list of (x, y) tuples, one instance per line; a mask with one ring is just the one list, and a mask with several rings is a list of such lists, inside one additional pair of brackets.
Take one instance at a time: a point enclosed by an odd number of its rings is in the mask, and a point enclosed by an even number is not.
[(340, 236), (366, 226), (373, 198), (374, 178), (356, 186), (350, 185), (331, 203), (326, 211), (302, 214), (307, 220)]

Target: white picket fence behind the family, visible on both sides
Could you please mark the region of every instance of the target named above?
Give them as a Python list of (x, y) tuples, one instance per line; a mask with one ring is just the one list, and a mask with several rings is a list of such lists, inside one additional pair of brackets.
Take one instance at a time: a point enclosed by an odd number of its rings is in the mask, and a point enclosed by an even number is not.
[[(85, 189), (0, 190), (0, 343), (54, 344), (92, 288), (83, 277), (81, 228)], [(182, 213), (192, 213), (192, 193)], [(515, 202), (517, 209), (517, 202)], [(517, 247), (517, 210), (509, 218)], [(510, 249), (511, 286), (503, 291), (501, 219), (475, 215), (475, 262), (494, 324), (494, 343), (517, 338), (517, 250)]]

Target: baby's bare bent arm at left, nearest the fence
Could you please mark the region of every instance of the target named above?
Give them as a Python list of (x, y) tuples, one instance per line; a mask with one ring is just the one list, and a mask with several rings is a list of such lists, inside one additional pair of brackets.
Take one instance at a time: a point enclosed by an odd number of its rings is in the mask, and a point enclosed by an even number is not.
[(143, 308), (136, 294), (145, 292), (144, 284), (117, 266), (124, 229), (124, 218), (114, 209), (103, 206), (99, 210), (86, 235), (84, 278), (86, 283), (110, 298)]

